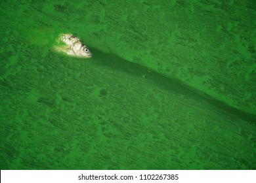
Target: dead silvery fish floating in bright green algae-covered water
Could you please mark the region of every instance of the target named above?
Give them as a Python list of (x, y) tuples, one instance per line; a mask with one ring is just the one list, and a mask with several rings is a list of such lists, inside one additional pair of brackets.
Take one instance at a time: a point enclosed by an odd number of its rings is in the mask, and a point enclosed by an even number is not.
[(79, 58), (91, 58), (93, 56), (88, 46), (86, 46), (77, 36), (70, 33), (59, 35), (54, 50)]

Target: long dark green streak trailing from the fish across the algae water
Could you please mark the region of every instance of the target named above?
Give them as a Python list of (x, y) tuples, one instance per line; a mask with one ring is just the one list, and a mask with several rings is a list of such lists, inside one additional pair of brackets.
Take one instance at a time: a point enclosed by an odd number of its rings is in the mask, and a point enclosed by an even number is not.
[(221, 112), (223, 114), (230, 114), (231, 116), (236, 116), (237, 118), (247, 120), (250, 124), (255, 124), (256, 122), (255, 114), (231, 107), (227, 103), (219, 101), (218, 99), (215, 99), (200, 90), (187, 86), (180, 80), (163, 76), (152, 69), (140, 65), (139, 63), (127, 61), (119, 56), (116, 56), (115, 54), (106, 54), (96, 48), (91, 48), (91, 51), (93, 52), (93, 63), (96, 65), (102, 65), (104, 67), (123, 71), (133, 76), (138, 76), (139, 78), (144, 76), (146, 80), (150, 80), (150, 82), (165, 88), (165, 90), (168, 90), (168, 92), (175, 93), (177, 95), (184, 95), (190, 99), (194, 99), (195, 101), (202, 99), (207, 101), (209, 105), (213, 105), (214, 107), (223, 110), (223, 112)]

